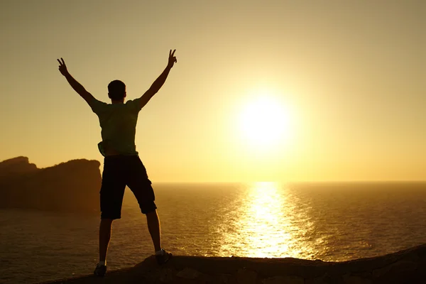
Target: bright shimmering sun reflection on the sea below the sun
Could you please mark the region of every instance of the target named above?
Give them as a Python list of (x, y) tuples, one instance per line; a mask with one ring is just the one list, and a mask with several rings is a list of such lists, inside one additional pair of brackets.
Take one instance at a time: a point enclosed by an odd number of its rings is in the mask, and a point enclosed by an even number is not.
[(309, 258), (303, 239), (311, 224), (294, 198), (278, 182), (253, 183), (221, 230), (224, 256)]

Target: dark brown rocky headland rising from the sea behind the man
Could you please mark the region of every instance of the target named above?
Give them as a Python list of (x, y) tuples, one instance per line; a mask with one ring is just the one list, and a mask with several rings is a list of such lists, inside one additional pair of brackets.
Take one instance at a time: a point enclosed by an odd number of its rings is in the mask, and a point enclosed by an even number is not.
[(37, 168), (26, 157), (0, 163), (0, 207), (99, 213), (97, 160), (70, 160)]

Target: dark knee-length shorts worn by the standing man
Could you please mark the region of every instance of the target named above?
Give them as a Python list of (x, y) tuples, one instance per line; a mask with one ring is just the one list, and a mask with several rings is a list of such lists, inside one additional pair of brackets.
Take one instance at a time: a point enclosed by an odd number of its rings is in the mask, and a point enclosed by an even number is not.
[(146, 168), (138, 155), (112, 155), (104, 158), (101, 187), (101, 218), (120, 219), (126, 185), (138, 200), (143, 214), (153, 212), (155, 195)]

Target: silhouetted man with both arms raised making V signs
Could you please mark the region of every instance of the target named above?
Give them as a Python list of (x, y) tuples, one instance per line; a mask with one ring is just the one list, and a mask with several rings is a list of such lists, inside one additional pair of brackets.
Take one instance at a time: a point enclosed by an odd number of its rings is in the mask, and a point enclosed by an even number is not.
[(135, 133), (139, 111), (163, 86), (173, 65), (178, 62), (175, 51), (173, 50), (172, 53), (170, 50), (167, 67), (148, 91), (138, 99), (126, 103), (124, 103), (126, 98), (124, 82), (114, 80), (109, 83), (108, 97), (111, 99), (111, 104), (99, 102), (70, 75), (65, 61), (62, 58), (62, 61), (58, 60), (60, 73), (97, 114), (102, 128), (102, 142), (98, 144), (98, 148), (105, 158), (100, 191), (99, 263), (94, 270), (97, 276), (103, 277), (107, 273), (107, 250), (111, 239), (111, 225), (114, 219), (121, 218), (121, 204), (126, 185), (138, 200), (141, 212), (146, 214), (148, 231), (151, 234), (158, 263), (163, 264), (172, 257), (172, 253), (161, 247), (160, 221), (154, 202), (155, 195), (146, 168), (136, 151)]

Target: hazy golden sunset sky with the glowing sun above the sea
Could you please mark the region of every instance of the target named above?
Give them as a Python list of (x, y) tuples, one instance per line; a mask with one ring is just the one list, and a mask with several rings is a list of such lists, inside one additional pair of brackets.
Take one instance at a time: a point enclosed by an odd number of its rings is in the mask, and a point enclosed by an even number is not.
[[(0, 160), (103, 161), (110, 102), (153, 182), (426, 180), (426, 2), (0, 1)], [(101, 167), (102, 170), (102, 167)]]

